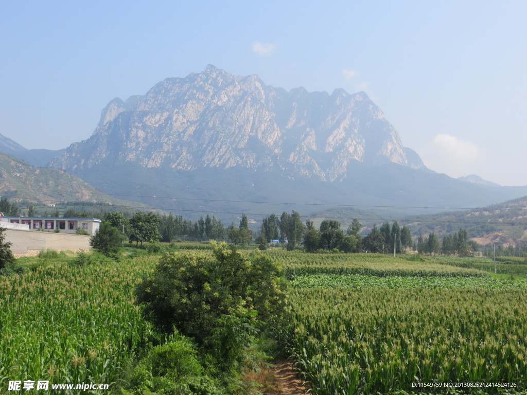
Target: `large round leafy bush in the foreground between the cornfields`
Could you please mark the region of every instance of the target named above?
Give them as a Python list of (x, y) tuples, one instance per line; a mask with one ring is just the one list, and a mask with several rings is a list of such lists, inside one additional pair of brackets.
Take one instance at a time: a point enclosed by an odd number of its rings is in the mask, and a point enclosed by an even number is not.
[(217, 359), (240, 359), (259, 322), (286, 309), (281, 266), (258, 250), (246, 255), (211, 242), (213, 256), (177, 252), (161, 258), (135, 288), (136, 303), (155, 327), (174, 328)]

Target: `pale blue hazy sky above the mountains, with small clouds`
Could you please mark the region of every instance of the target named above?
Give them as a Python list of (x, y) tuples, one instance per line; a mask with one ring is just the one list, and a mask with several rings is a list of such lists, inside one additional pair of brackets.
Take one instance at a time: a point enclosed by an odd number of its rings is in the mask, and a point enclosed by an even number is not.
[(0, 133), (87, 139), (114, 97), (213, 64), (365, 91), (431, 169), (527, 185), (527, 1), (4, 1)]

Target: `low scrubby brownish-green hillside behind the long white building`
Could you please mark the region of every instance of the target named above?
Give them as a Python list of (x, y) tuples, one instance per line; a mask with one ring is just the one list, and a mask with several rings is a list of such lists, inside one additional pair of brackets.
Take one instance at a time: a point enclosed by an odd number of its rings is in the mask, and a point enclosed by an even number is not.
[[(107, 196), (93, 186), (62, 170), (35, 168), (13, 155), (0, 153), (0, 195), (12, 201), (53, 204), (57, 202), (97, 202), (130, 205)], [(134, 203), (134, 205), (138, 205)]]

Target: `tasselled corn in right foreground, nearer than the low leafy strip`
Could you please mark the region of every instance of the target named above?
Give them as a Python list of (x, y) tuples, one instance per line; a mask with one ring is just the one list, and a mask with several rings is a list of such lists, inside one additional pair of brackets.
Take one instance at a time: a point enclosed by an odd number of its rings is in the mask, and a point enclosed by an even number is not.
[(416, 381), (525, 390), (526, 297), (526, 289), (293, 289), (281, 339), (317, 395), (411, 391)]

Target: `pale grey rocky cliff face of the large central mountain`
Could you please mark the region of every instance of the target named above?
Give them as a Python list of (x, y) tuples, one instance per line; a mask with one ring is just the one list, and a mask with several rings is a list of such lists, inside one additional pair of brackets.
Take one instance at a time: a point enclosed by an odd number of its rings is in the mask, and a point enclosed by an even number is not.
[(337, 181), (353, 161), (425, 168), (363, 92), (286, 92), (256, 75), (209, 65), (168, 78), (144, 96), (115, 98), (90, 139), (72, 144), (50, 166), (70, 172), (108, 164), (241, 167)]

